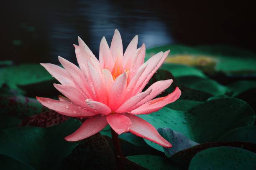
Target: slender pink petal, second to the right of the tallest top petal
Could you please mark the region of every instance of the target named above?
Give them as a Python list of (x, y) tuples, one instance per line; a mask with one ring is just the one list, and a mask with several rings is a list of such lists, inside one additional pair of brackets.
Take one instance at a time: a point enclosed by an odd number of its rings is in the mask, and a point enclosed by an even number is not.
[(132, 79), (132, 77), (136, 74), (138, 71), (138, 68), (143, 64), (144, 59), (146, 55), (146, 46), (143, 44), (138, 51), (138, 54), (135, 57), (135, 60), (133, 61), (133, 64), (131, 65), (129, 76), (128, 76), (128, 82)]

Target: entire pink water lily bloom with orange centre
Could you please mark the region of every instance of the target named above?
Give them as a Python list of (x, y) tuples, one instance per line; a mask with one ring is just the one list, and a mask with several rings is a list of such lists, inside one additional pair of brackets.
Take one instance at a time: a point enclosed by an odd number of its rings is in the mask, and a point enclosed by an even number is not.
[(170, 148), (157, 130), (137, 115), (149, 114), (174, 102), (181, 95), (178, 87), (165, 97), (155, 98), (172, 84), (158, 81), (142, 91), (163, 64), (169, 50), (144, 62), (146, 47), (137, 49), (136, 35), (123, 53), (120, 33), (115, 30), (110, 48), (105, 37), (100, 42), (99, 60), (78, 37), (74, 45), (79, 67), (59, 57), (61, 65), (41, 65), (61, 84), (54, 84), (64, 96), (59, 100), (37, 97), (42, 105), (70, 117), (85, 117), (81, 127), (65, 139), (78, 141), (100, 132), (108, 124), (118, 134), (133, 133)]

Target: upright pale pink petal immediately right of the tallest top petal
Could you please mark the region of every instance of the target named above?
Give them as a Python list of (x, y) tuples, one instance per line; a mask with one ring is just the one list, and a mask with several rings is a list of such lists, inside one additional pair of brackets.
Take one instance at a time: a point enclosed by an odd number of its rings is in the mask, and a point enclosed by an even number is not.
[(133, 59), (135, 58), (136, 49), (138, 45), (138, 35), (136, 35), (128, 45), (123, 55), (123, 66), (125, 70), (129, 70)]

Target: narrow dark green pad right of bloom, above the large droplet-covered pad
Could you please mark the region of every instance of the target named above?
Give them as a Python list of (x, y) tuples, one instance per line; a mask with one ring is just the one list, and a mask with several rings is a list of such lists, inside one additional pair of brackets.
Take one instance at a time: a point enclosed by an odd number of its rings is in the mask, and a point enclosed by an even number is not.
[(186, 87), (207, 92), (211, 95), (224, 95), (227, 91), (227, 87), (225, 87), (224, 85), (220, 85), (218, 82), (209, 78), (182, 76), (177, 77), (177, 80)]

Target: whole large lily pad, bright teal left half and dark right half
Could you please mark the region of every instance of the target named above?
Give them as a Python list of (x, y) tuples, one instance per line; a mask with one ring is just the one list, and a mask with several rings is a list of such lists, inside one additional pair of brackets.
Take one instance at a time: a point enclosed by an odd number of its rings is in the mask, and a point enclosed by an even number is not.
[[(209, 100), (187, 112), (164, 107), (158, 112), (139, 117), (155, 128), (170, 128), (197, 143), (216, 141), (226, 132), (253, 125), (255, 121), (255, 113), (248, 103), (235, 98)], [(146, 142), (163, 151), (160, 145)]]

